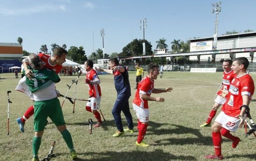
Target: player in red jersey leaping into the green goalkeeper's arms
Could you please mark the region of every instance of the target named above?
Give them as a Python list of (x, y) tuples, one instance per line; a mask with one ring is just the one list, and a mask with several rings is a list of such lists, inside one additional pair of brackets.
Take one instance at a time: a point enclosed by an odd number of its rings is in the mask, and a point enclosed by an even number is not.
[[(67, 54), (68, 54), (68, 51), (66, 51), (62, 47), (57, 47), (56, 49), (54, 49), (52, 56), (49, 56), (43, 53), (39, 53), (38, 55), (40, 59), (44, 62), (43, 64), (44, 68), (53, 70), (55, 71), (55, 73), (58, 74), (62, 69), (62, 64), (66, 61)], [(28, 69), (29, 59), (27, 58), (24, 59), (22, 61), (22, 65), (24, 65), (26, 77), (28, 77), (29, 79), (33, 79), (33, 73), (30, 69)], [(26, 81), (26, 77), (23, 77), (25, 81)], [(26, 93), (33, 100), (33, 94), (30, 94), (30, 91), (27, 88), (28, 86), (26, 85), (26, 82), (24, 83), (22, 79), (20, 80), (18, 86), (16, 87), (16, 90)], [(21, 132), (24, 132), (24, 124), (26, 120), (28, 120), (33, 114), (34, 114), (34, 106), (31, 105), (21, 118), (17, 118), (17, 122), (19, 124), (19, 128)]]

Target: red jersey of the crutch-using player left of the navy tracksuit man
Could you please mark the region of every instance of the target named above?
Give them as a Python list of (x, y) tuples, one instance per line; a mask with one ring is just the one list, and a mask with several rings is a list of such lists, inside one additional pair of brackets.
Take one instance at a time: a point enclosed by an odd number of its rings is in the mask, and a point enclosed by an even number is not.
[[(97, 75), (97, 72), (94, 69), (91, 69), (86, 73), (86, 79), (89, 79), (90, 81), (94, 81), (96, 78), (99, 78)], [(100, 84), (88, 84), (89, 87), (89, 95), (92, 97), (100, 97), (101, 96), (101, 90), (100, 90)]]

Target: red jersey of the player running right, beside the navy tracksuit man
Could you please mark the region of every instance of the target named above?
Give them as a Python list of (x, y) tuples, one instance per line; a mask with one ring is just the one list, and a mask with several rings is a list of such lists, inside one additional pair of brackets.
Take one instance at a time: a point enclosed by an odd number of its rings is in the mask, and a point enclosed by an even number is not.
[(151, 81), (148, 76), (144, 77), (144, 79), (142, 79), (142, 81), (140, 81), (138, 84), (138, 89), (135, 93), (135, 97), (132, 103), (142, 108), (148, 108), (148, 100), (144, 100), (140, 98), (140, 93), (150, 96), (153, 89), (154, 89), (154, 80)]

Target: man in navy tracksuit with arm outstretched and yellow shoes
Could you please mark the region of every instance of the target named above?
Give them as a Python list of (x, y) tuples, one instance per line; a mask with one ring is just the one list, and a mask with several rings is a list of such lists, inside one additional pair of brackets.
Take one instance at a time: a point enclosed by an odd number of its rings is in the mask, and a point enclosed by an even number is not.
[[(117, 92), (117, 99), (112, 109), (112, 114), (114, 116), (115, 124), (118, 131), (113, 135), (113, 137), (120, 137), (124, 135), (124, 132), (134, 132), (132, 114), (129, 108), (129, 98), (131, 96), (131, 87), (129, 82), (128, 71), (119, 65), (117, 58), (112, 58), (109, 60), (110, 69), (99, 68), (98, 71), (105, 71), (109, 74), (114, 75), (114, 83)], [(126, 121), (128, 123), (128, 129), (123, 128), (121, 111), (124, 113)]]

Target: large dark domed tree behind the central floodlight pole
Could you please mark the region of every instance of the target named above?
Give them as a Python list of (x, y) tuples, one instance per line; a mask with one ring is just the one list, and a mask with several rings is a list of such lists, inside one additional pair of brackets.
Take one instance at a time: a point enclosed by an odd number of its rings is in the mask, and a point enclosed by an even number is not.
[[(130, 42), (126, 47), (123, 48), (122, 53), (119, 53), (119, 57), (128, 57), (128, 56), (136, 56), (136, 55), (142, 55), (143, 53), (143, 46), (142, 46), (143, 40), (142, 39), (134, 39), (132, 42)], [(152, 45), (150, 42), (145, 40), (145, 51), (146, 55), (152, 55)]]

